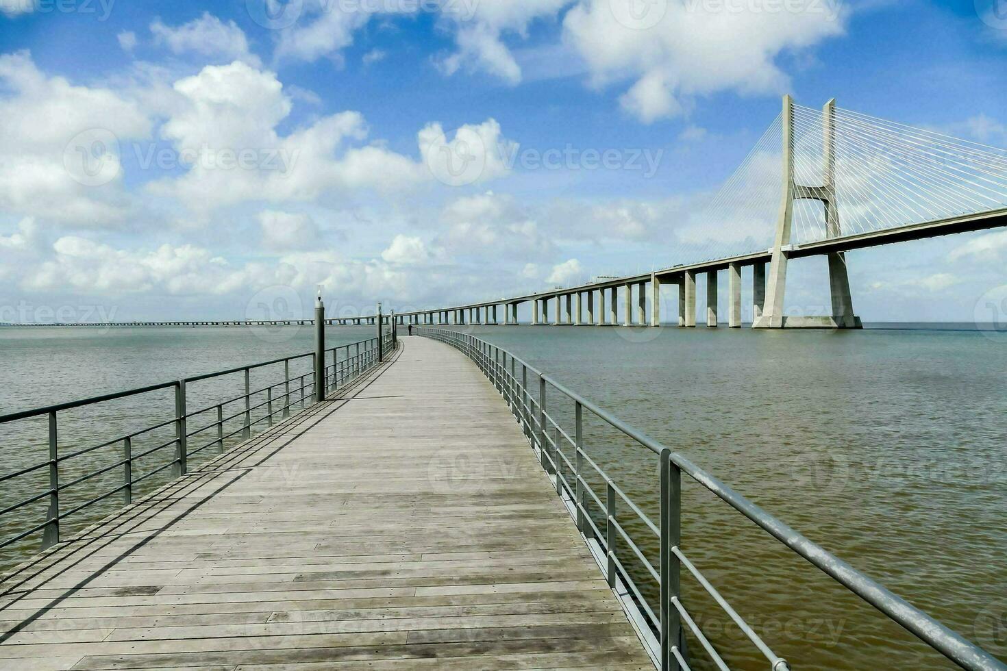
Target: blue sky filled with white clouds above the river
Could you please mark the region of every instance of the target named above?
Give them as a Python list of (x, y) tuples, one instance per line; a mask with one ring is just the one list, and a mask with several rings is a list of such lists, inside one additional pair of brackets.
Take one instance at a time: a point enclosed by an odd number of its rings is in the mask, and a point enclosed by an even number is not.
[[(1007, 147), (994, 0), (652, 0), (646, 26), (618, 16), (646, 0), (293, 0), (264, 27), (276, 1), (0, 0), (0, 321), (240, 318), (317, 283), (427, 306), (691, 261), (684, 212), (784, 93)], [(494, 155), (455, 183), (425, 159), (459, 138)], [(550, 150), (577, 158), (529, 160)], [(1004, 257), (996, 231), (853, 253), (854, 305), (968, 321)], [(788, 304), (827, 303), (824, 260), (794, 267)]]

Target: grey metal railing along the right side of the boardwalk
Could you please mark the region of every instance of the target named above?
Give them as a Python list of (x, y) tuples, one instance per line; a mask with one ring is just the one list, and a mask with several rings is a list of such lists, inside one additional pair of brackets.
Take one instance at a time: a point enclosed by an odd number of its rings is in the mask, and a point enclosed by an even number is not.
[[(542, 467), (553, 478), (556, 492), (566, 502), (578, 530), (595, 553), (609, 586), (619, 596), (630, 615), (630, 621), (636, 626), (652, 658), (662, 671), (690, 668), (689, 653), (685, 646), (687, 629), (717, 668), (728, 669), (682, 602), (680, 580), (683, 567), (686, 574), (702, 586), (765, 657), (772, 671), (789, 669), (787, 662), (776, 655), (744, 618), (731, 608), (682, 550), (683, 473), (962, 668), (1007, 671), (1007, 665), (985, 650), (798, 533), (689, 459), (567, 389), (511, 352), (475, 336), (449, 329), (418, 328), (415, 333), (445, 342), (466, 354), (503, 396)], [(559, 392), (560, 400), (554, 401), (548, 397), (549, 388)], [(564, 401), (572, 404), (570, 409), (573, 427), (570, 431), (565, 430), (557, 420), (562, 408), (557, 406), (557, 410), (547, 410), (554, 403)], [(585, 412), (631, 439), (657, 458), (660, 467), (661, 510), (657, 523), (587, 455), (584, 449)], [(573, 461), (565, 454), (565, 451), (571, 450)], [(604, 482), (605, 491), (602, 494), (591, 488), (591, 479)], [(627, 531), (629, 523), (619, 521), (620, 518), (624, 520), (626, 515), (638, 519), (643, 528), (659, 541), (658, 566), (633, 541)], [(603, 521), (599, 524), (595, 522), (595, 518)], [(657, 609), (652, 607), (644, 595), (646, 585), (637, 584), (633, 571), (627, 564), (638, 567), (637, 573), (642, 572), (644, 577), (650, 576), (658, 583), (660, 596)]]

